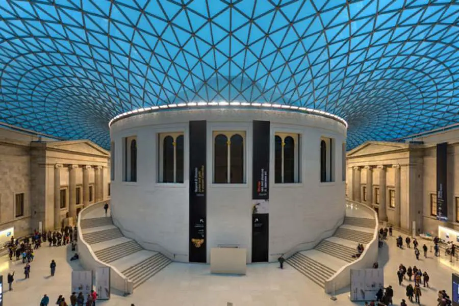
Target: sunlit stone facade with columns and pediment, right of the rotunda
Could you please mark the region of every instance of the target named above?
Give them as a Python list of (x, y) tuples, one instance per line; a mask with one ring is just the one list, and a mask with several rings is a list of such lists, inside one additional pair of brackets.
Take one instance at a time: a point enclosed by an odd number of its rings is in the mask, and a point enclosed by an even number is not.
[[(381, 221), (416, 232), (459, 230), (459, 130), (413, 137), (405, 143), (366, 142), (347, 153), (346, 195), (378, 211)], [(437, 143), (448, 142), (448, 221), (432, 212), (437, 194)], [(435, 210), (435, 203), (433, 204)]]

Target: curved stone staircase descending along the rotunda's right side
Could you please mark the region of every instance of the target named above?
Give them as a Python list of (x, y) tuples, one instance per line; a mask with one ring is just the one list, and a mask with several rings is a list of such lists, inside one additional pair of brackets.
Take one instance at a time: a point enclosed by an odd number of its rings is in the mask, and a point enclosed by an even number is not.
[(332, 237), (322, 240), (314, 249), (300, 251), (287, 259), (287, 263), (320, 287), (341, 267), (356, 258), (358, 243), (368, 244), (376, 226), (371, 218), (346, 216), (343, 225)]

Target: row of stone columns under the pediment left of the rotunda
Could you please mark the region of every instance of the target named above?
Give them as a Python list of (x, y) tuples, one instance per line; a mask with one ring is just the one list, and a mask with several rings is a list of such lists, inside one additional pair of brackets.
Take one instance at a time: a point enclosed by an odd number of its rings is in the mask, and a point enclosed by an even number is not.
[(68, 168), (68, 214), (75, 220), (77, 218), (77, 169), (83, 169), (83, 207), (89, 205), (89, 171), (94, 168), (93, 200), (98, 202), (104, 199), (103, 166), (90, 165), (63, 165), (56, 164), (54, 167), (54, 226), (61, 227), (61, 169)]

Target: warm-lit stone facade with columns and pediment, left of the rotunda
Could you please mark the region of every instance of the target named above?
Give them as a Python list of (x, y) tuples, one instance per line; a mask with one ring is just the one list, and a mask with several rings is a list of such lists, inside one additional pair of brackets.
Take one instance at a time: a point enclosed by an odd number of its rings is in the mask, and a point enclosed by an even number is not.
[(0, 230), (21, 236), (40, 222), (43, 230), (72, 222), (84, 206), (109, 198), (109, 178), (110, 153), (89, 140), (0, 128)]

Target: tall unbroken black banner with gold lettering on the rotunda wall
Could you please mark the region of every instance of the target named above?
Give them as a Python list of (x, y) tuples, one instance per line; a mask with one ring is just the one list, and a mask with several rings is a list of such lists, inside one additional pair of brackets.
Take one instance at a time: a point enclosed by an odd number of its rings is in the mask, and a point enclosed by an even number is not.
[(190, 121), (190, 254), (189, 261), (207, 262), (206, 248), (206, 121)]

